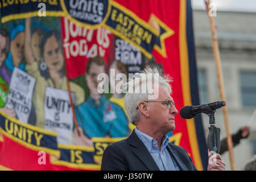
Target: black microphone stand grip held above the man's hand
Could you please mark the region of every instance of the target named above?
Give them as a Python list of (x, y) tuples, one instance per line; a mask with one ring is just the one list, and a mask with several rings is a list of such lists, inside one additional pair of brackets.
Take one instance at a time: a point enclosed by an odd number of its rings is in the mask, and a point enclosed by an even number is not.
[(201, 110), (209, 116), (210, 127), (208, 134), (208, 148), (210, 154), (220, 153), (220, 128), (215, 126), (214, 113), (216, 110), (211, 109), (208, 105), (202, 105)]

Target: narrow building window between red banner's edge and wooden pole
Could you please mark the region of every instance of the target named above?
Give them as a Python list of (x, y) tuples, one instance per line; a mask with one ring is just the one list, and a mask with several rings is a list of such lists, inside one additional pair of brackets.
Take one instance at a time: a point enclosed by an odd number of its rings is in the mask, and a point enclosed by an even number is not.
[(207, 77), (205, 69), (197, 70), (200, 104), (208, 103)]

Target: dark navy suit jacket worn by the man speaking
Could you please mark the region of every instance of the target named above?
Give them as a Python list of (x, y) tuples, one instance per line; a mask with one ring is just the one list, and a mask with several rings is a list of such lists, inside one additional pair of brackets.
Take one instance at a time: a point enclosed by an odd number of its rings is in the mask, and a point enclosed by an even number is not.
[[(197, 170), (184, 148), (169, 143), (167, 150), (170, 152), (174, 164), (181, 171)], [(159, 168), (146, 146), (133, 131), (128, 138), (115, 142), (105, 149), (102, 156), (101, 170), (159, 171)]]

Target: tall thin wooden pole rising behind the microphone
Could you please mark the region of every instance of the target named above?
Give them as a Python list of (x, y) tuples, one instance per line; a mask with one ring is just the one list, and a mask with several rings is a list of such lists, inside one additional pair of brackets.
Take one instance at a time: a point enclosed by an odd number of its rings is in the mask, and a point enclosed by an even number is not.
[[(222, 69), (221, 69), (221, 60), (220, 60), (220, 51), (218, 49), (218, 40), (216, 37), (216, 28), (213, 20), (213, 16), (209, 15), (210, 10), (210, 0), (205, 1), (205, 5), (207, 6), (207, 14), (209, 16), (210, 20), (210, 31), (212, 32), (212, 44), (213, 44), (213, 53), (214, 53), (214, 59), (217, 67), (217, 76), (218, 76), (218, 87), (220, 89), (220, 96), (222, 101), (226, 101), (225, 96), (225, 89), (224, 89), (224, 81), (222, 76)], [(227, 144), (228, 144), (228, 150), (229, 150), (229, 159), (230, 159), (230, 165), (232, 171), (236, 170), (235, 162), (234, 162), (234, 153), (233, 153), (233, 142), (232, 142), (232, 136), (230, 135), (229, 130), (229, 118), (228, 118), (228, 109), (227, 107), (222, 107), (222, 111), (224, 114), (224, 121), (225, 121), (225, 129), (226, 129), (226, 135), (227, 135)]]

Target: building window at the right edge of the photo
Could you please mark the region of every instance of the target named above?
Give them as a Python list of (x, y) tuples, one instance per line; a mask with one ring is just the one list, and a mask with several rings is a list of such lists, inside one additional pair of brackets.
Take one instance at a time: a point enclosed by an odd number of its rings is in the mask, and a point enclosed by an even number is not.
[(256, 106), (256, 72), (240, 72), (243, 106)]

